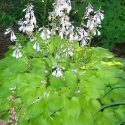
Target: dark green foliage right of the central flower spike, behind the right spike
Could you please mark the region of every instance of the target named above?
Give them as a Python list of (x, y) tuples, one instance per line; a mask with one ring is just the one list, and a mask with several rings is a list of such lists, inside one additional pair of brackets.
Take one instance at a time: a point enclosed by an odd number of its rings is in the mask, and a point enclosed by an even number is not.
[[(100, 6), (104, 10), (105, 18), (102, 21), (102, 28), (100, 28), (101, 35), (94, 39), (97, 41), (96, 45), (104, 48), (113, 49), (116, 43), (125, 42), (125, 1), (124, 0), (76, 0), (72, 1), (74, 8), (72, 18), (74, 24), (79, 25), (82, 14), (85, 11), (86, 3), (90, 2), (95, 10)], [(94, 42), (96, 43), (96, 42)], [(123, 50), (124, 51), (124, 50)]]

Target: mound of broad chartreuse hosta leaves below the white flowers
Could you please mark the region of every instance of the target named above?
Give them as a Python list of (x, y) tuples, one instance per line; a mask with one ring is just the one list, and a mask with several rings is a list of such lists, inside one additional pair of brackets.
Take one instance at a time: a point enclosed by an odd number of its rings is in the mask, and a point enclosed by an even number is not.
[[(100, 47), (76, 48), (72, 58), (55, 60), (58, 36), (36, 53), (25, 46), (27, 57), (15, 59), (12, 47), (0, 60), (0, 116), (8, 121), (15, 107), (18, 125), (118, 124), (125, 117), (125, 60)], [(44, 41), (41, 41), (46, 46)], [(56, 44), (56, 46), (55, 46)], [(40, 58), (42, 57), (42, 58)], [(62, 55), (63, 57), (63, 55)], [(52, 75), (53, 65), (65, 69)], [(107, 70), (108, 69), (108, 70)], [(11, 98), (13, 97), (13, 101)]]

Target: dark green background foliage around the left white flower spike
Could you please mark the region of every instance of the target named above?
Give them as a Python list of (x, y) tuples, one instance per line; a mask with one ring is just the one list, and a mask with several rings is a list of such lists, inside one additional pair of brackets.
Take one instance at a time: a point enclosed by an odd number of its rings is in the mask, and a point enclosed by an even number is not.
[(53, 0), (45, 0), (44, 2), (41, 0), (10, 0), (9, 2), (2, 0), (0, 3), (1, 26), (12, 28), (13, 26), (18, 25), (18, 20), (24, 16), (22, 10), (29, 2), (32, 2), (35, 5), (35, 15), (38, 25), (41, 26), (47, 24), (47, 11), (52, 9), (50, 5)]

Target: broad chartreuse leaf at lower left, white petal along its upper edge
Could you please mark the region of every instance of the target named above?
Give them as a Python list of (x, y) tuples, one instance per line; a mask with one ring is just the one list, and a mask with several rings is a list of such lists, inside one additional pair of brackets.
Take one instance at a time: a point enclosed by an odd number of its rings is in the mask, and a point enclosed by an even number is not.
[(41, 99), (36, 99), (34, 103), (32, 103), (28, 108), (27, 108), (27, 113), (30, 116), (30, 118), (35, 118), (41, 115), (44, 111), (44, 100)]

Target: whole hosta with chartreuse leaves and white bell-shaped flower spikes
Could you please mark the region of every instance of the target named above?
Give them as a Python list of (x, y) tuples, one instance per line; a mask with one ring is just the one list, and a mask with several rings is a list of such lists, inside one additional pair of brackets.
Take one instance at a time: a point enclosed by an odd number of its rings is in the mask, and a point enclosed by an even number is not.
[(125, 59), (90, 47), (101, 35), (101, 7), (89, 3), (79, 27), (70, 0), (56, 0), (38, 28), (32, 3), (6, 29), (13, 45), (0, 60), (0, 119), (8, 125), (122, 125), (125, 123)]

